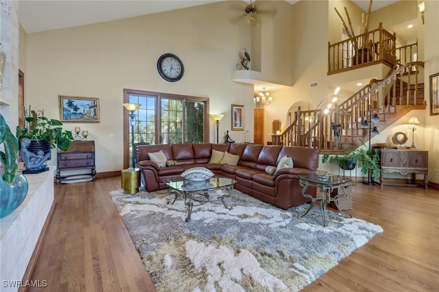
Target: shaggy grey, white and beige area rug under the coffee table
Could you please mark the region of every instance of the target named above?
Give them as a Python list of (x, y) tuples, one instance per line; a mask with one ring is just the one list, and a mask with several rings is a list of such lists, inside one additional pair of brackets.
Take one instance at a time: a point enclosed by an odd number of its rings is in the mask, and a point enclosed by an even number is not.
[[(211, 198), (224, 195), (212, 191)], [(278, 209), (233, 189), (221, 202), (187, 207), (167, 190), (110, 193), (157, 291), (299, 291), (381, 226), (308, 204)]]

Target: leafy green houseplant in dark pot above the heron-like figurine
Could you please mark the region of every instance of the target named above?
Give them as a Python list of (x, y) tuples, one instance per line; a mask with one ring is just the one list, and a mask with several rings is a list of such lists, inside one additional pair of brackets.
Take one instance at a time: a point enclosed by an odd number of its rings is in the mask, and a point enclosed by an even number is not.
[(65, 151), (71, 146), (73, 135), (71, 131), (62, 130), (62, 122), (49, 119), (45, 116), (29, 116), (25, 118), (28, 127), (16, 128), (16, 136), (19, 142), (23, 138), (28, 138), (37, 142), (43, 141), (51, 145), (51, 148), (58, 146)]

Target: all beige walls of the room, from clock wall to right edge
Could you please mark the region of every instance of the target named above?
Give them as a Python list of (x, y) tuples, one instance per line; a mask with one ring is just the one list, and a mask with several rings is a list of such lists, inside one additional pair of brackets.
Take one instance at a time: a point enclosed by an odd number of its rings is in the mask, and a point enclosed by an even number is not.
[[(28, 34), (27, 104), (58, 118), (58, 94), (99, 98), (101, 122), (66, 123), (67, 129), (87, 129), (89, 139), (96, 141), (98, 172), (122, 168), (123, 88), (208, 96), (211, 114), (226, 114), (219, 124), (220, 133), (230, 130), (230, 104), (245, 105), (245, 128), (252, 140), (253, 85), (230, 81), (230, 72), (236, 70), (242, 48), (252, 48), (252, 66), (292, 84), (270, 91), (274, 101), (265, 110), (265, 142), (270, 141), (272, 120), (280, 118), (285, 129), (291, 105), (309, 101), (312, 108), (337, 86), (322, 65), (327, 61), (328, 40), (341, 34), (340, 21), (327, 25), (337, 18), (333, 6), (344, 5), (333, 2), (342, 1), (298, 1), (291, 6), (276, 6), (275, 21), (253, 28), (252, 34), (246, 21), (230, 22), (228, 2)], [(346, 5), (351, 14), (353, 4)], [(438, 5), (439, 2), (427, 1), (425, 31), (420, 32), (426, 47), (426, 90), (428, 76), (439, 72)], [(260, 51), (255, 47), (257, 44)], [(272, 47), (265, 47), (267, 44)], [(176, 53), (185, 63), (185, 76), (177, 83), (164, 81), (156, 72), (157, 58), (166, 52)], [(309, 88), (309, 83), (315, 81), (318, 87)], [(342, 91), (342, 96), (349, 94)], [(416, 131), (416, 146), (429, 150), (429, 177), (438, 183), (439, 162), (434, 157), (438, 157), (439, 150), (434, 142), (438, 145), (439, 141), (434, 137), (439, 137), (439, 116), (429, 116), (428, 111), (416, 114), (423, 123)], [(395, 129), (401, 131), (405, 127), (403, 124), (401, 121), (372, 142), (387, 141)], [(215, 136), (213, 128), (211, 120), (211, 142)], [(110, 133), (115, 133), (114, 139), (109, 137)], [(230, 136), (237, 142), (244, 141), (243, 131), (230, 131)]]

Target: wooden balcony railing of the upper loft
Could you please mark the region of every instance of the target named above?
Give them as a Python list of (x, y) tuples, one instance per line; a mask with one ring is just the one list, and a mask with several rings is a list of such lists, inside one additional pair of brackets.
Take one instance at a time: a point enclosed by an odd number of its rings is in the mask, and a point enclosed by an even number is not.
[(374, 64), (396, 61), (396, 34), (379, 27), (335, 44), (328, 43), (328, 75)]

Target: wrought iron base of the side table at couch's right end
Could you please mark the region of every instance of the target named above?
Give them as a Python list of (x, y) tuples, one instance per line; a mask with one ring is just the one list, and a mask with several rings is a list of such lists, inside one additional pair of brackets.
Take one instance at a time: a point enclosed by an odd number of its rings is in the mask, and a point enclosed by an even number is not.
[[(335, 203), (335, 206), (337, 207), (338, 211), (340, 211), (340, 213), (344, 217), (346, 217), (346, 218), (353, 217), (353, 215), (351, 215), (351, 214), (346, 215), (338, 207), (338, 199), (341, 197), (346, 198), (348, 196), (348, 193), (346, 193), (345, 189), (346, 189), (346, 187), (351, 187), (351, 182), (342, 183), (340, 185), (325, 185), (324, 183), (315, 183), (315, 185), (317, 185), (319, 187), (320, 193), (322, 194), (322, 196), (320, 198), (314, 198), (313, 196), (306, 194), (306, 191), (310, 185), (310, 183), (308, 181), (300, 180), (299, 184), (302, 186), (302, 196), (304, 196), (305, 198), (311, 199), (311, 203), (309, 204), (308, 210), (300, 217), (307, 215), (307, 213), (309, 213), (309, 211), (311, 211), (311, 209), (313, 209), (314, 203), (316, 201), (320, 201), (320, 213), (322, 213), (323, 226), (325, 226), (325, 227), (328, 226), (325, 211), (327, 209), (327, 204), (329, 204), (330, 202)], [(314, 184), (314, 183), (311, 183), (311, 184)], [(337, 194), (337, 196), (335, 196), (334, 198), (331, 198), (331, 194), (332, 194), (334, 189), (339, 189), (342, 194)]]

